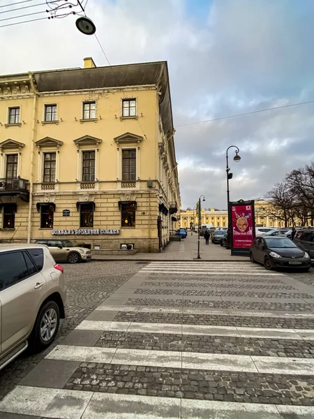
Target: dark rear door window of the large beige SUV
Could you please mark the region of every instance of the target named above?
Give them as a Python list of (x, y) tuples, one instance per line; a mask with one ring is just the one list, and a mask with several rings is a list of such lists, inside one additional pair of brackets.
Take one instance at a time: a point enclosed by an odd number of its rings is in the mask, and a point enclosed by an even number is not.
[(0, 253), (0, 289), (8, 288), (29, 276), (22, 251)]

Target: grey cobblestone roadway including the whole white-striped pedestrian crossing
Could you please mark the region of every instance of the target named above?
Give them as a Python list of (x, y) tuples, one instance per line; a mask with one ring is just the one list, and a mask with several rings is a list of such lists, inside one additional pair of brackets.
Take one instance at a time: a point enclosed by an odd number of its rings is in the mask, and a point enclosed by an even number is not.
[(12, 390), (0, 419), (314, 418), (311, 272), (234, 262), (65, 272), (59, 338), (0, 373), (1, 394)]

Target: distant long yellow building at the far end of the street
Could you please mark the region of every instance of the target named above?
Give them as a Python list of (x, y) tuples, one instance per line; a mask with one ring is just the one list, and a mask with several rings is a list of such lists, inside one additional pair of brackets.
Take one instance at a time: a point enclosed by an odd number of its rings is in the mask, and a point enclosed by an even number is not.
[[(276, 212), (271, 206), (271, 203), (267, 200), (257, 199), (255, 200), (255, 225), (256, 226), (267, 226), (267, 227), (284, 227), (285, 223), (283, 220), (276, 217)], [(227, 210), (216, 210), (211, 208), (209, 211), (201, 211), (201, 224), (212, 223), (213, 227), (227, 227), (228, 218)], [(180, 213), (180, 224), (181, 227), (190, 228), (190, 226), (198, 226), (198, 216), (196, 210), (181, 210)], [(301, 226), (301, 223), (299, 223)]]

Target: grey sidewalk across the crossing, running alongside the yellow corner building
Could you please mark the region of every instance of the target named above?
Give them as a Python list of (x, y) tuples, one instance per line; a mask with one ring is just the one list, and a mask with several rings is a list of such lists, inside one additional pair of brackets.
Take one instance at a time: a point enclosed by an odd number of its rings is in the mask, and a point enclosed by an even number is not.
[(204, 237), (200, 237), (200, 259), (197, 259), (197, 233), (191, 235), (181, 242), (170, 242), (161, 253), (135, 253), (132, 256), (93, 255), (94, 260), (216, 260), (216, 261), (243, 261), (248, 262), (245, 256), (231, 256), (230, 250), (221, 247), (220, 244), (205, 244)]

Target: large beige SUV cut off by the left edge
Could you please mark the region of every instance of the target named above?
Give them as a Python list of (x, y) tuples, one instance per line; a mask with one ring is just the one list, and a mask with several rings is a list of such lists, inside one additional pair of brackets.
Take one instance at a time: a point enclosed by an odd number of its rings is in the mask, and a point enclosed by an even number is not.
[(38, 244), (0, 244), (0, 369), (28, 346), (47, 348), (64, 318), (63, 268)]

